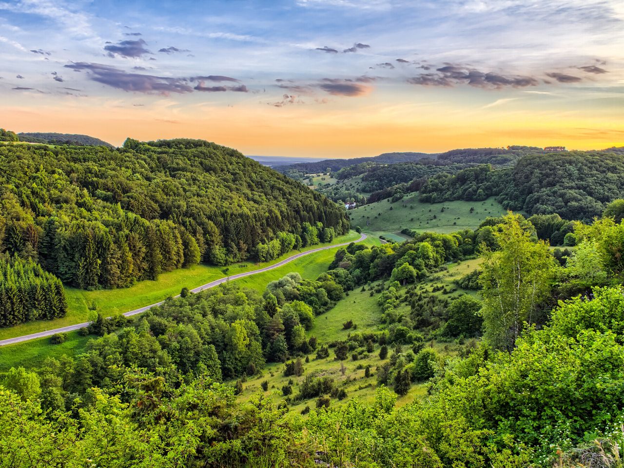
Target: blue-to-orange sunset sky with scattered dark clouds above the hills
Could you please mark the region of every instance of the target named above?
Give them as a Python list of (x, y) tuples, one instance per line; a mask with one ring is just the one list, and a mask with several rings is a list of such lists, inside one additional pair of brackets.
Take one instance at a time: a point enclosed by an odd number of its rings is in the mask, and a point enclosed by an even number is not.
[(0, 127), (300, 157), (624, 146), (624, 1), (0, 0)]

